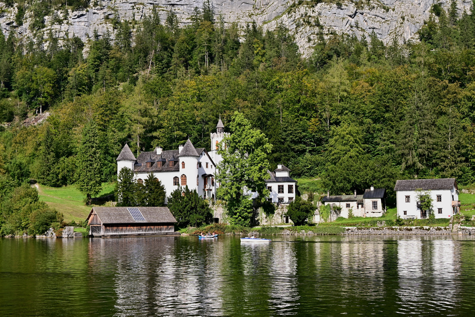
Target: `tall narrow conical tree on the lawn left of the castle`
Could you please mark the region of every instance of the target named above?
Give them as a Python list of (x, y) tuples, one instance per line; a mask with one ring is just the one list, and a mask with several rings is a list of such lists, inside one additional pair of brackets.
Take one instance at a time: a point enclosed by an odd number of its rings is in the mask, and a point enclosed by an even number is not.
[(101, 156), (99, 131), (95, 122), (91, 120), (83, 128), (76, 160), (76, 186), (86, 196), (86, 205), (89, 205), (91, 198), (102, 190)]

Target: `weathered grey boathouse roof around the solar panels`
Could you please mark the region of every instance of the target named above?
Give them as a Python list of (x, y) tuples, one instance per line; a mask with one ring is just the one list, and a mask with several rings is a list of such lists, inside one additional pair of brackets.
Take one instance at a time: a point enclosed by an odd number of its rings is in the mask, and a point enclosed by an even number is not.
[(101, 222), (104, 223), (173, 223), (177, 222), (167, 207), (137, 207), (145, 221), (134, 221), (127, 207), (93, 207), (87, 220), (93, 211)]

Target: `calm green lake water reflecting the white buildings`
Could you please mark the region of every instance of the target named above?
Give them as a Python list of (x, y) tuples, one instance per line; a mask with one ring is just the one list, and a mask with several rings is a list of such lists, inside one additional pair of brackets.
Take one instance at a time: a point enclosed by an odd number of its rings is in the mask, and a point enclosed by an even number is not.
[(474, 316), (467, 237), (1, 239), (0, 316)]

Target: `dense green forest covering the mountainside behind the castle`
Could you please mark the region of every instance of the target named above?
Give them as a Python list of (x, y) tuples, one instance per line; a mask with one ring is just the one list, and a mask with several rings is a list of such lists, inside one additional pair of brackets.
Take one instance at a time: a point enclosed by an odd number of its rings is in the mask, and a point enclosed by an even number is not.
[[(188, 138), (210, 149), (219, 115), (226, 131), (235, 111), (273, 145), (271, 170), (283, 163), (320, 192), (374, 185), (391, 199), (397, 179), (475, 183), (473, 7), (459, 15), (455, 2), (447, 11), (435, 4), (404, 44), (322, 28), (310, 57), (284, 25), (225, 24), (209, 1), (185, 27), (172, 10), (165, 20), (153, 10), (109, 23), (114, 32), (88, 43), (0, 32), (1, 221), (29, 179), (81, 179), (87, 126), (96, 127), (94, 168), (112, 182), (125, 143), (134, 154)], [(45, 112), (42, 124), (24, 124)]]

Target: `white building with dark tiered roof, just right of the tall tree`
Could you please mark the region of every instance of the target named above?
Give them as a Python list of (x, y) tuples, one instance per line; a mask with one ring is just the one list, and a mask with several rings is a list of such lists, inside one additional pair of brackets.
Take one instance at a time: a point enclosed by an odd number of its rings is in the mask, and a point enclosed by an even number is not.
[[(278, 164), (274, 172), (267, 170), (269, 178), (266, 180), (266, 186), (270, 192), (267, 198), (269, 202), (289, 203), (295, 200), (297, 181), (290, 178), (290, 172), (291, 170), (283, 164)], [(250, 193), (252, 198), (257, 197), (257, 192)]]

